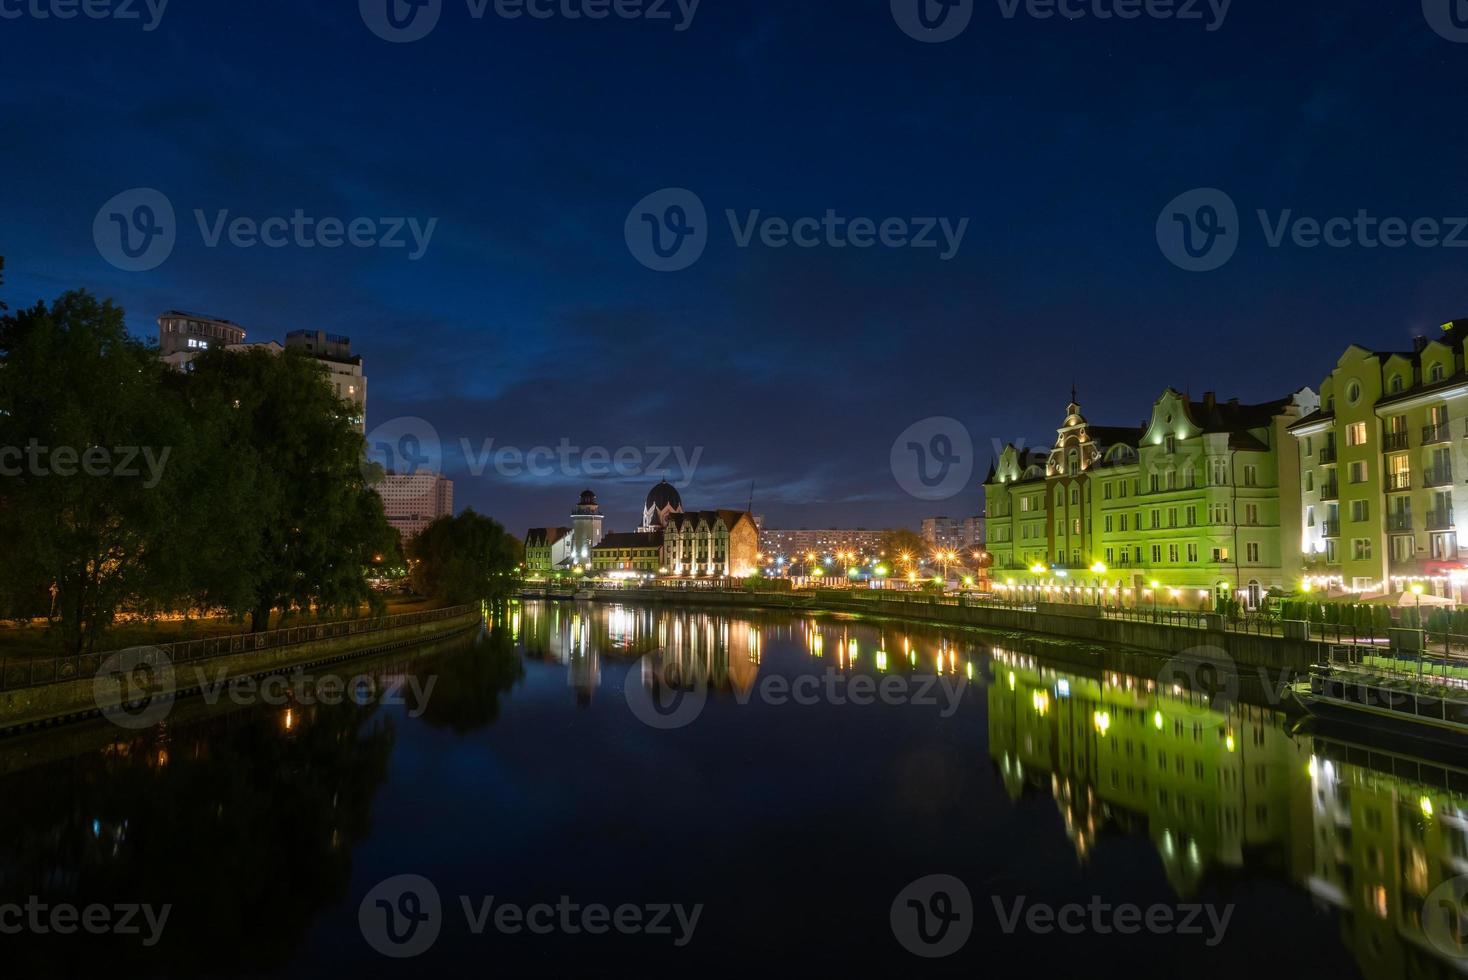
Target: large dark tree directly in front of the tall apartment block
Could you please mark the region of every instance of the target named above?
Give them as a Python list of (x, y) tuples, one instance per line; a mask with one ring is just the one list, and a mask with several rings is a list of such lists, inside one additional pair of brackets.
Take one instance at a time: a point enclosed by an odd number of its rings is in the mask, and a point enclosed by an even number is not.
[(210, 604), (250, 615), (345, 612), (382, 600), (367, 585), (395, 533), (364, 464), (354, 409), (319, 361), (295, 351), (207, 351), (188, 374), (210, 420), (213, 459), (247, 503), (222, 516), (197, 584)]

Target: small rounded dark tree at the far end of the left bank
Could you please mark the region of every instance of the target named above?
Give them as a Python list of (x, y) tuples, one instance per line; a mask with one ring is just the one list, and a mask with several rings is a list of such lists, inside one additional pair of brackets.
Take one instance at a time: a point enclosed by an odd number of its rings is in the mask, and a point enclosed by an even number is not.
[(413, 587), (449, 604), (504, 599), (520, 585), (520, 540), (474, 511), (439, 518), (408, 552)]

